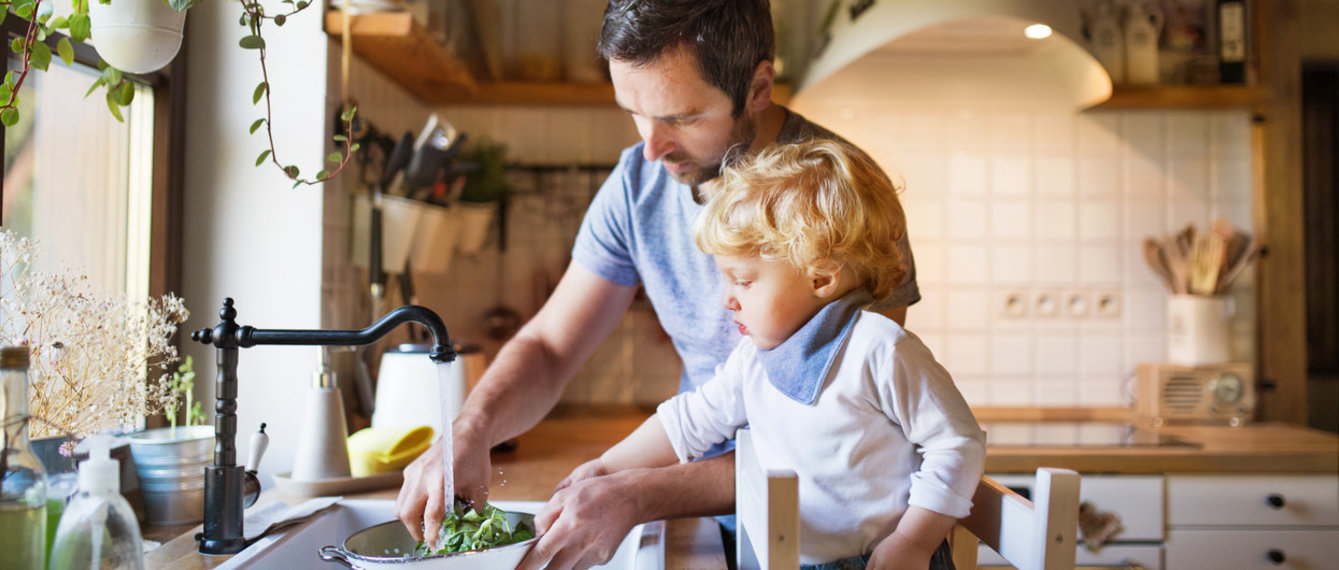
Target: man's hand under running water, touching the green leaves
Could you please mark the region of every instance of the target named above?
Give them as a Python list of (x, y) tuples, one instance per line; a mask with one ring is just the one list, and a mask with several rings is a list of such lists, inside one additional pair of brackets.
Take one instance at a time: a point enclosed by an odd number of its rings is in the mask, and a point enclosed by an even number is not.
[[(459, 496), (474, 510), (483, 511), (489, 499), (489, 480), (493, 460), (487, 446), (477, 446), (469, 438), (455, 438), (455, 492), (446, 496), (446, 475), (442, 463), (442, 442), (438, 440), (404, 468), (404, 484), (395, 499), (395, 518), (404, 523), (415, 541), (435, 547), (446, 518), (447, 507), (454, 508)], [(482, 448), (479, 452), (477, 450)], [(450, 502), (449, 502), (450, 499)], [(427, 537), (427, 539), (424, 539)]]

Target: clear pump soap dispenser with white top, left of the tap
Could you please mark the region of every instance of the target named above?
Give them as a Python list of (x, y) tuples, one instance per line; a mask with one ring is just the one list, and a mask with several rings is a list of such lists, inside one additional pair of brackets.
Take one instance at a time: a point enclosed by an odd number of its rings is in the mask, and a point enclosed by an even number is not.
[(88, 459), (79, 463), (79, 491), (56, 527), (52, 569), (145, 567), (139, 523), (121, 496), (121, 466), (111, 459), (114, 440), (110, 435), (91, 435), (76, 447), (87, 451)]

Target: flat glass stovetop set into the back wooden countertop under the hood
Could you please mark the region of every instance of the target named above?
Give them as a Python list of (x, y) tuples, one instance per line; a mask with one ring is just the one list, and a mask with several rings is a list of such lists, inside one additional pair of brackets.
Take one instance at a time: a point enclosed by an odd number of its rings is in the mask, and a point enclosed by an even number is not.
[(1197, 447), (1123, 421), (990, 421), (987, 447)]

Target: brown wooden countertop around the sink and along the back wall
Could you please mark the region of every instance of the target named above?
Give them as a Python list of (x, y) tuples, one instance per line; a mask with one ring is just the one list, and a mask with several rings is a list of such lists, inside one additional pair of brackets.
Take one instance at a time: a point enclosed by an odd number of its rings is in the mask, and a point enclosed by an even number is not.
[[(495, 470), (491, 498), (497, 500), (545, 500), (553, 487), (576, 466), (599, 456), (605, 448), (631, 434), (645, 417), (644, 411), (556, 412), (518, 438), (514, 451), (493, 456)], [(1118, 416), (1085, 417), (999, 417), (979, 413), (983, 424), (1002, 419), (1118, 420)], [(988, 472), (1032, 472), (1036, 467), (1066, 467), (1083, 474), (1164, 474), (1164, 472), (1307, 472), (1339, 474), (1339, 435), (1285, 424), (1245, 427), (1176, 425), (1144, 430), (1148, 435), (1176, 438), (1185, 446), (1172, 447), (1060, 447), (992, 446)], [(394, 499), (396, 490), (383, 490), (349, 498)], [(167, 539), (146, 557), (150, 569), (205, 569), (226, 557), (195, 553), (194, 529), (147, 529), (146, 538)], [(711, 519), (671, 520), (667, 530), (667, 569), (723, 569), (720, 537)]]

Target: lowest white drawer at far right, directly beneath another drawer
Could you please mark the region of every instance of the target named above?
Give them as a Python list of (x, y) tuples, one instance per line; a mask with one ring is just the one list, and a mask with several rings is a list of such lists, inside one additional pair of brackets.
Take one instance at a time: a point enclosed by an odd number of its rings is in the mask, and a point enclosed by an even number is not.
[(1339, 530), (1168, 531), (1166, 567), (1172, 570), (1322, 570), (1335, 567), (1335, 559), (1339, 559)]

